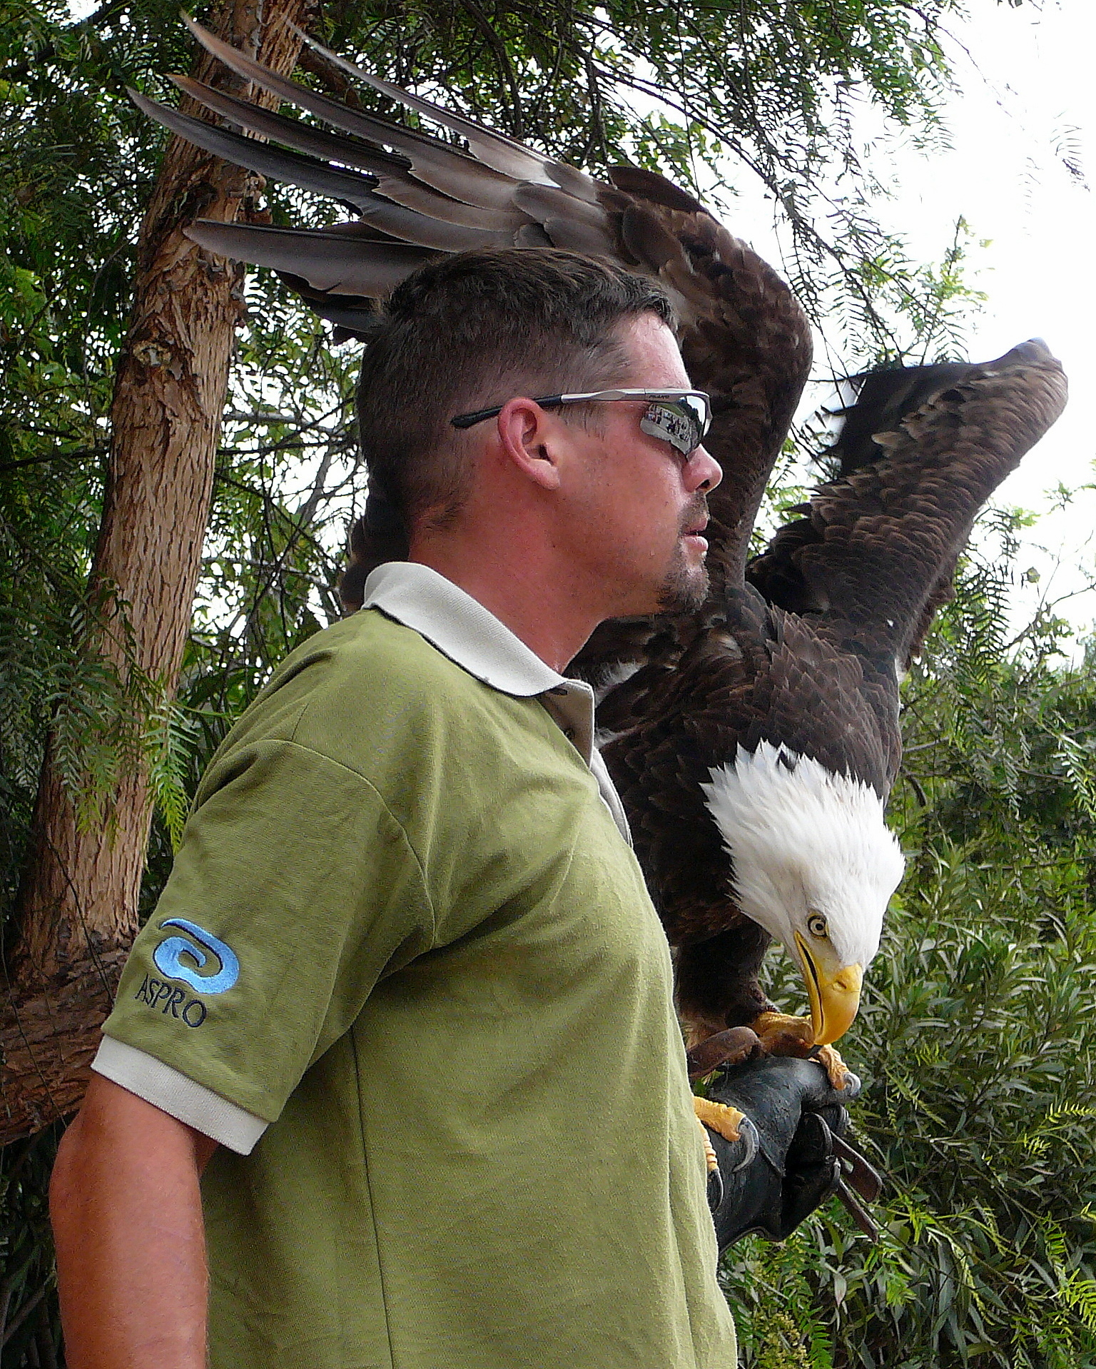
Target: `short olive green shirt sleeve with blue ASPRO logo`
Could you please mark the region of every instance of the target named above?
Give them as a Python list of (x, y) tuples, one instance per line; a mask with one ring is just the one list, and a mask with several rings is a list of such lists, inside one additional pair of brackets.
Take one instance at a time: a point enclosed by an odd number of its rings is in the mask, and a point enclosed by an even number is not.
[[(364, 776), (290, 741), (216, 764), (103, 1029), (271, 1123), (378, 980), (431, 947), (434, 910), (404, 828)], [(114, 1054), (101, 1073), (179, 1114), (171, 1076)], [(222, 1139), (208, 1108), (186, 1106), (182, 1120)], [(238, 1131), (241, 1117), (224, 1116)]]

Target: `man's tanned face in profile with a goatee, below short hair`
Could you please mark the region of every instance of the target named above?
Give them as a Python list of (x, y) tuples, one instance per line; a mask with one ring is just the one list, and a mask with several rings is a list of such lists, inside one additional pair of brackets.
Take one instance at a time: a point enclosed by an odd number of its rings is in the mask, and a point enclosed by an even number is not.
[[(673, 333), (655, 315), (624, 323), (629, 366), (620, 387), (688, 389)], [(599, 578), (606, 617), (687, 612), (707, 593), (701, 531), (706, 493), (722, 478), (701, 446), (684, 457), (640, 430), (643, 400), (591, 407), (588, 427), (572, 424), (582, 461), (568, 491), (573, 556)]]

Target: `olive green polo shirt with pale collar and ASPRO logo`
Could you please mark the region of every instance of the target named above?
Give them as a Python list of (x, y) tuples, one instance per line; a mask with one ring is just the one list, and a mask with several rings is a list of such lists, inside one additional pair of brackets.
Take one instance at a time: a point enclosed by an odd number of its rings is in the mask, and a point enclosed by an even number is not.
[(588, 691), (424, 567), (367, 605), (213, 758), (96, 1061), (223, 1142), (213, 1369), (732, 1369)]

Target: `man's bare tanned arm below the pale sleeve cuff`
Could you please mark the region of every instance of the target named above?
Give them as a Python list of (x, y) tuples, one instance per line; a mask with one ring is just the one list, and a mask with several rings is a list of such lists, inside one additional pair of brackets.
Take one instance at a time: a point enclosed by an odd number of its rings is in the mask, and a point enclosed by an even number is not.
[(215, 1150), (92, 1075), (49, 1186), (68, 1369), (205, 1369), (198, 1179)]

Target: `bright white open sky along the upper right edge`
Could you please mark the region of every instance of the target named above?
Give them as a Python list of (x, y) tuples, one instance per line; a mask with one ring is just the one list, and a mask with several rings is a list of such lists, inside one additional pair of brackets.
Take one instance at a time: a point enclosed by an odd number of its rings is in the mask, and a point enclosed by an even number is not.
[[(1096, 175), (1085, 164), (1096, 134), (1096, 7), (969, 0), (969, 22), (952, 25), (962, 94), (944, 108), (951, 151), (902, 152), (895, 197), (877, 208), (909, 237), (917, 260), (943, 256), (959, 215), (970, 225), (967, 279), (988, 296), (967, 330), (971, 360), (989, 360), (1028, 337), (1043, 337), (1062, 359), (1070, 404), (997, 494), (1000, 504), (1043, 511), (1059, 483), (1092, 482), (1096, 457), (1088, 412), (1096, 372), (1096, 196), (1084, 181), (1089, 170)], [(1063, 153), (1080, 164), (1080, 178), (1066, 170)], [(978, 240), (988, 242), (980, 248)], [(1040, 517), (1021, 553), (1019, 568), (1029, 565), (1040, 582), (1017, 590), (1017, 619), (1026, 622), (1039, 597), (1071, 594), (1059, 612), (1086, 632), (1096, 593), (1077, 591), (1085, 571), (1096, 574), (1095, 491)]]

